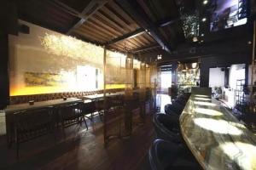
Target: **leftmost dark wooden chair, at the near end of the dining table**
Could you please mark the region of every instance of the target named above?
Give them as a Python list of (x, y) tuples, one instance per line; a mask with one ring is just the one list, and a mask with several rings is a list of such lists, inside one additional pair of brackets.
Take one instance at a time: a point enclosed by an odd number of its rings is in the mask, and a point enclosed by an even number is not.
[(51, 108), (16, 112), (14, 120), (17, 158), (21, 143), (54, 132)]

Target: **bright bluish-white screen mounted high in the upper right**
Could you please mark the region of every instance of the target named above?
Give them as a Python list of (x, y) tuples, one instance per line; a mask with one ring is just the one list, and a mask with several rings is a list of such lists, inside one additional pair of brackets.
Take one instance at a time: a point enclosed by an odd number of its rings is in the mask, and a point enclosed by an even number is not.
[(247, 0), (210, 0), (210, 31), (245, 25), (247, 23)]

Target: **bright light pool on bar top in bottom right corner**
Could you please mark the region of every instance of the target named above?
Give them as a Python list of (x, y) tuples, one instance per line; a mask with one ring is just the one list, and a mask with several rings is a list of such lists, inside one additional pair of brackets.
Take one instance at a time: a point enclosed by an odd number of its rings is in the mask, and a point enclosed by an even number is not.
[(221, 144), (224, 154), (241, 169), (256, 169), (256, 146), (242, 142)]

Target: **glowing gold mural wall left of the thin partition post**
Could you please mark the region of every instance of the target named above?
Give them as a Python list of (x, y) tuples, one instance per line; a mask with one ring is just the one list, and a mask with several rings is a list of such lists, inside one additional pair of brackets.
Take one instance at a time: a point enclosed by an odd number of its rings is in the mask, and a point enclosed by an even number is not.
[[(29, 34), (9, 35), (9, 94), (50, 94), (103, 88), (103, 48), (23, 20)], [(80, 67), (98, 69), (97, 87)], [(96, 81), (95, 81), (96, 82)], [(89, 89), (90, 88), (90, 89)]]

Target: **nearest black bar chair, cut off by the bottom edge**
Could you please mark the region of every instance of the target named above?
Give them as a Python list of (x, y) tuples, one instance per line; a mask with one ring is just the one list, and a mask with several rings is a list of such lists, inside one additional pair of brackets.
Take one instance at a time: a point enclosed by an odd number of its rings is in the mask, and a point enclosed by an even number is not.
[(162, 139), (154, 140), (148, 151), (148, 158), (152, 170), (201, 169), (182, 145)]

